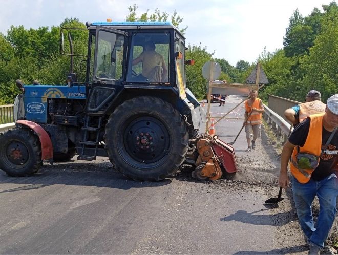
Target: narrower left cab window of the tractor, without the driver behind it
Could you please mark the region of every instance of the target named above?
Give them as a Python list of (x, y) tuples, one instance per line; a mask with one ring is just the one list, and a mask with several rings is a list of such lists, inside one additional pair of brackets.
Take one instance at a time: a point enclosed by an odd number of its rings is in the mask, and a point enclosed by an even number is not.
[(96, 78), (113, 81), (121, 79), (124, 36), (100, 30), (97, 40)]

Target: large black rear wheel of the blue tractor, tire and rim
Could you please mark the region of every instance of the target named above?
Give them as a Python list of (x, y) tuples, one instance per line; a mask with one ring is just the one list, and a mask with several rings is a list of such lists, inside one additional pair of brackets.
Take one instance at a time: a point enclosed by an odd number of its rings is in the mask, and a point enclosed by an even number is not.
[(109, 160), (124, 176), (159, 181), (184, 161), (189, 135), (170, 103), (141, 96), (115, 109), (105, 125), (104, 142)]

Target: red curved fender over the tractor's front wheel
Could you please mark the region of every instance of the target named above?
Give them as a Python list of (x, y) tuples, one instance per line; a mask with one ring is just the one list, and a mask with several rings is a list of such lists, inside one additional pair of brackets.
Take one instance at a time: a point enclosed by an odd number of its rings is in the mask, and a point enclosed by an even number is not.
[(42, 126), (39, 124), (29, 121), (29, 120), (17, 120), (17, 124), (22, 124), (25, 126), (28, 126), (30, 129), (32, 129), (35, 134), (39, 137), (40, 143), (41, 143), (41, 159), (52, 159), (53, 158), (53, 144), (52, 140), (49, 137), (48, 133)]

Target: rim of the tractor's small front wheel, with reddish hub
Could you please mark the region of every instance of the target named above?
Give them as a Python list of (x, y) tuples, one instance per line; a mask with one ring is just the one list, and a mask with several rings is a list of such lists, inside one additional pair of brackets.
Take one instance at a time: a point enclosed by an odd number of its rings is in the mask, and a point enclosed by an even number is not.
[(19, 141), (12, 141), (7, 145), (6, 156), (15, 165), (25, 164), (29, 159), (27, 147)]

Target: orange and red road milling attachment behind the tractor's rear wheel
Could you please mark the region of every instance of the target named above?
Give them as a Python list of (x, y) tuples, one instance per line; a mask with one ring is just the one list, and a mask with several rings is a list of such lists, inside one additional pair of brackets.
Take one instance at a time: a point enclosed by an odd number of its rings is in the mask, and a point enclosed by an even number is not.
[[(197, 153), (189, 157), (195, 162), (192, 177), (199, 180), (218, 180), (233, 178), (237, 172), (236, 156), (233, 147), (209, 134), (201, 135), (192, 140), (196, 144)], [(195, 157), (195, 158), (194, 158)], [(194, 161), (192, 161), (194, 160)]]

